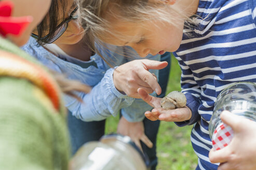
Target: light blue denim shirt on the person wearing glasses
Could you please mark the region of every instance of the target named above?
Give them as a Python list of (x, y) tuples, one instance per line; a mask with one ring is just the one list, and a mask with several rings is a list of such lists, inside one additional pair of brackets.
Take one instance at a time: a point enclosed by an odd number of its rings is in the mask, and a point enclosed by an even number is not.
[[(77, 92), (76, 94), (82, 98), (83, 103), (80, 103), (75, 98), (64, 95), (65, 106), (72, 112), (72, 115), (83, 121), (99, 121), (106, 119), (109, 116), (117, 116), (119, 110), (122, 115), (130, 122), (138, 122), (144, 119), (144, 112), (151, 110), (152, 107), (140, 99), (129, 97), (120, 93), (113, 83), (114, 68), (107, 65), (104, 60), (98, 55), (92, 55), (91, 60), (95, 61), (95, 65), (90, 65), (87, 68), (71, 62), (64, 61), (56, 55), (50, 53), (42, 46), (37, 46), (36, 40), (30, 38), (29, 42), (21, 47), (23, 50), (35, 56), (48, 68), (56, 72), (64, 74), (69, 79), (79, 80), (82, 83), (92, 87), (90, 93), (85, 94)], [(113, 66), (118, 66), (128, 61), (124, 55), (120, 54), (120, 48), (115, 47), (118, 54), (112, 48), (110, 50), (100, 48), (100, 53), (105, 59), (109, 59)], [(131, 59), (139, 59), (138, 56), (133, 56)], [(160, 60), (160, 55), (149, 55), (147, 59)], [(129, 59), (130, 60), (130, 59)], [(158, 75), (158, 70), (150, 70), (151, 73)], [(155, 92), (151, 95), (156, 95)]]

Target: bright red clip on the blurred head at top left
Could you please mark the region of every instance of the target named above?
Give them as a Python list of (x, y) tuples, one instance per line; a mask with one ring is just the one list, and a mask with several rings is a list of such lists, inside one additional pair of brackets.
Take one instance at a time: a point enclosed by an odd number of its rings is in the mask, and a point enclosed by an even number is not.
[(7, 34), (21, 35), (33, 20), (31, 16), (11, 17), (13, 6), (14, 4), (8, 1), (0, 2), (0, 34), (3, 36)]

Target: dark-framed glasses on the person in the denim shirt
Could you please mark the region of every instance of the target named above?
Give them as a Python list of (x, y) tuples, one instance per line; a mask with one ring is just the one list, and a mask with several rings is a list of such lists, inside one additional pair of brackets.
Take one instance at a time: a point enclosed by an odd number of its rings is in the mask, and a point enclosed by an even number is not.
[(68, 28), (68, 23), (72, 20), (76, 20), (78, 18), (77, 15), (74, 16), (74, 13), (77, 11), (78, 7), (76, 7), (70, 14), (70, 16), (68, 18), (66, 18), (64, 21), (62, 21), (57, 27), (56, 30), (52, 36), (52, 38), (50, 40), (48, 40), (49, 34), (47, 34), (46, 36), (44, 36), (43, 38), (38, 39), (38, 36), (36, 34), (32, 33), (32, 37), (36, 38), (46, 44), (51, 44), (54, 41), (56, 41)]

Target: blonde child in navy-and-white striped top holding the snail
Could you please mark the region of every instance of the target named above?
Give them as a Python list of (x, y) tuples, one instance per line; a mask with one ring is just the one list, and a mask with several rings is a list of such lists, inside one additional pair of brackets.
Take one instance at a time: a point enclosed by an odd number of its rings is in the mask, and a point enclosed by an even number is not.
[[(186, 107), (164, 110), (160, 98), (143, 89), (138, 92), (155, 107), (145, 112), (147, 118), (175, 121), (179, 126), (194, 124), (191, 140), (198, 156), (196, 169), (219, 165), (208, 157), (212, 148), (208, 123), (218, 94), (233, 82), (256, 82), (255, 6), (253, 0), (84, 1), (86, 29), (105, 43), (131, 46), (141, 56), (175, 51)], [(250, 164), (255, 169), (255, 163)]]

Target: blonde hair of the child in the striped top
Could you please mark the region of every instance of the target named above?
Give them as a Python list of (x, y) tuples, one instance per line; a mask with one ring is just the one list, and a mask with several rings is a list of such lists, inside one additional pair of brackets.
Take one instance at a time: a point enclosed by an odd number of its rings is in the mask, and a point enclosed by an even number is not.
[(176, 5), (166, 5), (149, 0), (83, 0), (82, 23), (86, 31), (88, 43), (100, 42), (105, 35), (122, 39), (123, 35), (113, 32), (107, 16), (125, 22), (143, 24), (145, 21), (162, 21), (175, 25), (177, 18), (172, 18), (173, 13), (180, 19), (189, 19)]

